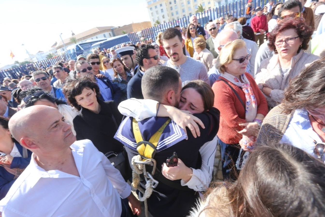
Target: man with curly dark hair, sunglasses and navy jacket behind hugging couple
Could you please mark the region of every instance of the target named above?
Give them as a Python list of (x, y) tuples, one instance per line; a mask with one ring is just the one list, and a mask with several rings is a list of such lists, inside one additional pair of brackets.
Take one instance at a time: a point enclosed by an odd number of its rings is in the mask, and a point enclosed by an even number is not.
[(152, 45), (141, 45), (136, 52), (136, 64), (139, 66), (135, 76), (127, 84), (127, 98), (143, 99), (141, 79), (146, 70), (158, 65), (159, 55)]

